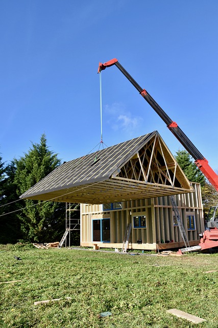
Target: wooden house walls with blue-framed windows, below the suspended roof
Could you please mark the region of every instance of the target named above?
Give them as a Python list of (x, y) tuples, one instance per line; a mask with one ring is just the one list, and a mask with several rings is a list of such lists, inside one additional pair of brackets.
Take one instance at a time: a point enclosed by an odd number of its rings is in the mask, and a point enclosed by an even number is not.
[[(189, 244), (197, 245), (198, 234), (204, 231), (203, 206), (200, 184), (193, 182), (192, 188), (193, 193), (175, 198)], [(128, 249), (158, 251), (184, 246), (169, 196), (120, 202), (103, 210), (109, 207), (81, 204), (81, 246), (122, 249), (128, 223), (132, 223)], [(136, 217), (143, 223), (134, 222)]]

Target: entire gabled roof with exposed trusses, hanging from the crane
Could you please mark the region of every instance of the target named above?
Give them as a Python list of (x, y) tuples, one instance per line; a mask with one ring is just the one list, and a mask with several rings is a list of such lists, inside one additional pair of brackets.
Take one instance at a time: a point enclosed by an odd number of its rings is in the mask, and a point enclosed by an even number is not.
[(191, 191), (154, 131), (64, 163), (20, 198), (100, 204)]

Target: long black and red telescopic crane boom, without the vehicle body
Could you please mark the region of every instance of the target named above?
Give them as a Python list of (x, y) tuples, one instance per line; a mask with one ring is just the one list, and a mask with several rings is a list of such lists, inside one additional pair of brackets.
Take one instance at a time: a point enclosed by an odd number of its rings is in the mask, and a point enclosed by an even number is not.
[(149, 105), (155, 110), (155, 112), (162, 118), (165, 122), (167, 128), (175, 135), (175, 137), (180, 141), (182, 146), (187, 150), (187, 152), (195, 159), (195, 163), (205, 177), (209, 180), (211, 185), (218, 191), (218, 176), (213, 171), (213, 169), (208, 165), (207, 159), (200, 153), (200, 151), (192, 144), (185, 133), (180, 129), (178, 124), (173, 121), (164, 110), (156, 103), (152, 96), (145, 90), (142, 89), (139, 84), (134, 80), (134, 78), (125, 70), (125, 68), (119, 64), (116, 58), (113, 58), (106, 63), (99, 63), (98, 73), (102, 70), (115, 65), (120, 72), (122, 72), (131, 84), (138, 90), (141, 96), (149, 103)]

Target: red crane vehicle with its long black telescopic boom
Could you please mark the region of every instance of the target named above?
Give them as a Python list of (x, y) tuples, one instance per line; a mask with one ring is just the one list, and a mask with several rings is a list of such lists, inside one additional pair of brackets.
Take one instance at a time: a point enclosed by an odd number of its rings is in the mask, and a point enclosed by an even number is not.
[[(139, 94), (146, 99), (149, 105), (155, 110), (155, 112), (165, 122), (167, 128), (176, 136), (181, 142), (182, 146), (187, 152), (195, 159), (197, 167), (201, 170), (204, 176), (208, 179), (211, 185), (218, 191), (218, 176), (209, 166), (208, 160), (199, 152), (199, 150), (192, 144), (185, 133), (179, 128), (178, 124), (173, 121), (163, 111), (163, 109), (156, 103), (152, 96), (145, 90), (142, 89), (132, 76), (124, 69), (122, 65), (118, 63), (116, 58), (113, 58), (106, 63), (99, 63), (98, 73), (105, 70), (107, 67), (115, 65), (132, 83), (132, 85), (138, 90)], [(180, 254), (191, 251), (202, 251), (210, 248), (218, 247), (218, 205), (211, 207), (206, 220), (205, 231), (199, 235), (201, 237), (200, 243), (197, 246), (186, 247), (179, 250)]]

